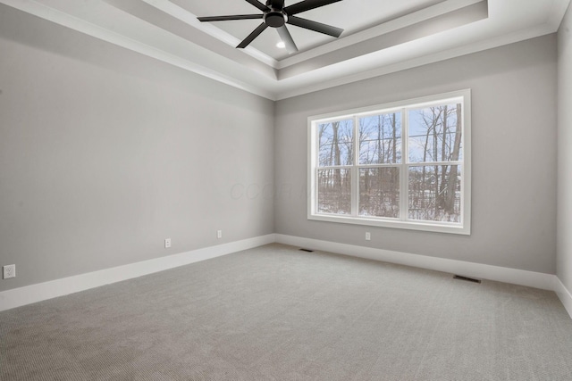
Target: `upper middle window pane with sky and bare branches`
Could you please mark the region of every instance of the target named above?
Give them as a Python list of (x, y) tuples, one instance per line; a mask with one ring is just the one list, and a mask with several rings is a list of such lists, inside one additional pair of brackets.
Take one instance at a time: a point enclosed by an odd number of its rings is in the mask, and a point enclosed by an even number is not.
[(401, 113), (359, 119), (359, 163), (401, 162)]

